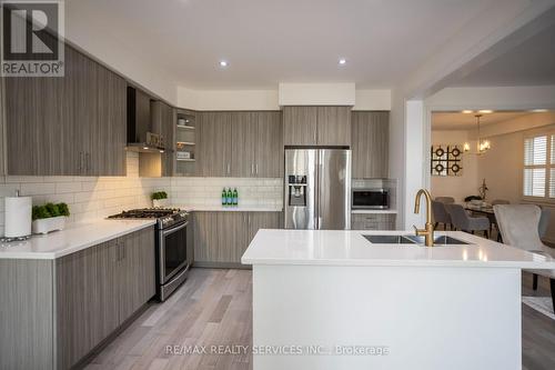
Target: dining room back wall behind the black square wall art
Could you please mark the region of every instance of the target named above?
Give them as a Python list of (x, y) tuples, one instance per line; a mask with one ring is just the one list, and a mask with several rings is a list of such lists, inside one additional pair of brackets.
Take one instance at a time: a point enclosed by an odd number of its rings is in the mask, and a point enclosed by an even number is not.
[[(432, 131), (432, 144), (460, 144), (471, 140), (468, 131)], [(471, 142), (474, 146), (475, 141)], [(435, 197), (453, 197), (455, 201), (462, 202), (465, 197), (477, 193), (478, 183), (478, 158), (475, 154), (463, 153), (462, 176), (432, 176), (430, 190)]]

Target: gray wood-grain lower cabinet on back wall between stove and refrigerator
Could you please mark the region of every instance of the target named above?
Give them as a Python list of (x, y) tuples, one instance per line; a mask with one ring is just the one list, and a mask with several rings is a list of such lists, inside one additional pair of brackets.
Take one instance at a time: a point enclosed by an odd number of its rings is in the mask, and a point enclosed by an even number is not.
[(194, 212), (194, 263), (239, 266), (259, 229), (280, 229), (282, 212)]

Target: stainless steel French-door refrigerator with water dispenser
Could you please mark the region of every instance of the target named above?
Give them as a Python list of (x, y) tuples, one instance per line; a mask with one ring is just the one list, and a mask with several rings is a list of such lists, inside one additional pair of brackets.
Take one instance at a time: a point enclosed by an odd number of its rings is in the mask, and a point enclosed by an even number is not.
[(351, 150), (285, 149), (285, 229), (351, 229)]

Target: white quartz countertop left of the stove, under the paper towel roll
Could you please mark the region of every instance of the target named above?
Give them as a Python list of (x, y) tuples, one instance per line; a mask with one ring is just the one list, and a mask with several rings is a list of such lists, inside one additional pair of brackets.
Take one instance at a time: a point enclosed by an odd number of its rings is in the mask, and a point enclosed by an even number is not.
[(98, 220), (74, 224), (26, 241), (0, 243), (0, 259), (57, 259), (153, 224), (154, 220)]

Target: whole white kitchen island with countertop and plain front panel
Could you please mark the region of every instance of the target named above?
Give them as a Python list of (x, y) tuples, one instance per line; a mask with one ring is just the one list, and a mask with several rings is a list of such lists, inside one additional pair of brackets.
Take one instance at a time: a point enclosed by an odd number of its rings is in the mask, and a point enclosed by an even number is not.
[(260, 230), (242, 257), (254, 369), (521, 369), (521, 270), (555, 260), (464, 232), (387, 237), (402, 234)]

